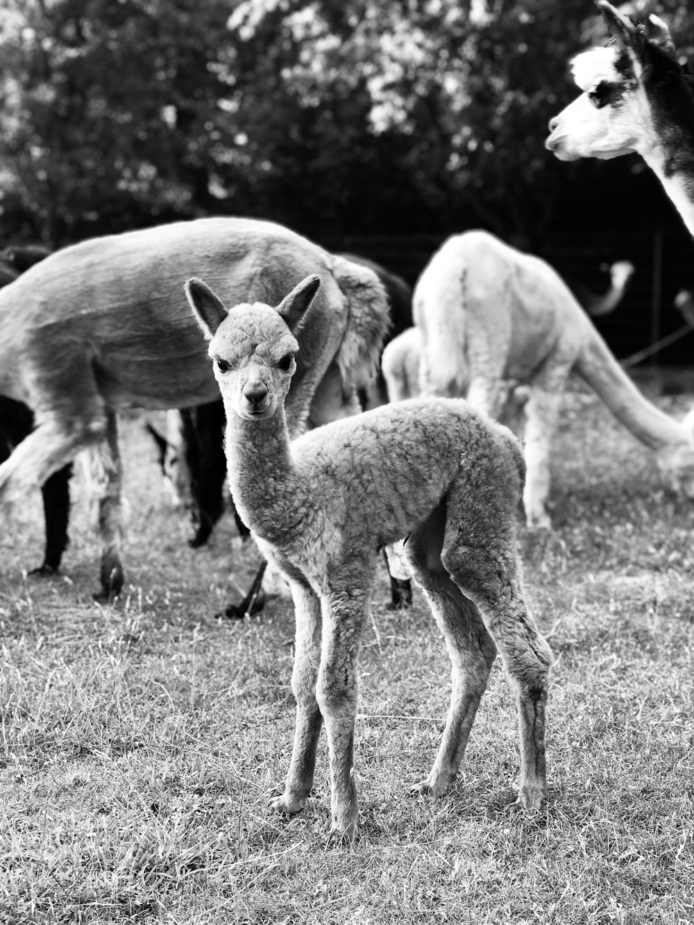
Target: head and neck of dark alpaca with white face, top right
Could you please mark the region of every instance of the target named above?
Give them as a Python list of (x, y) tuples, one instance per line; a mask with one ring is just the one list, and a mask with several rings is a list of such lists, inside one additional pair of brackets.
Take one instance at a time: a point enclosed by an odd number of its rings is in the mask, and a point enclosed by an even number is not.
[(572, 61), (583, 93), (550, 120), (545, 146), (563, 161), (637, 152), (694, 235), (694, 95), (662, 19), (634, 24), (597, 0), (612, 34)]

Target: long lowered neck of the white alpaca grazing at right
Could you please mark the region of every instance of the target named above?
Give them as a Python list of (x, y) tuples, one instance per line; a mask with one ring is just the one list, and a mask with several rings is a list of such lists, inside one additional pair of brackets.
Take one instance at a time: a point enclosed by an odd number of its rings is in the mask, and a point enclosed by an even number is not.
[(594, 328), (575, 368), (617, 420), (651, 450), (660, 452), (688, 442), (683, 426), (641, 394)]

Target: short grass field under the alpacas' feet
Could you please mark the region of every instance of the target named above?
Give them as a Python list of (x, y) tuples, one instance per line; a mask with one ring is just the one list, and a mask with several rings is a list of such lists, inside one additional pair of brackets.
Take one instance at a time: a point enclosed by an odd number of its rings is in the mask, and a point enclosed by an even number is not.
[[(656, 401), (681, 415), (694, 394)], [(0, 922), (694, 921), (694, 508), (591, 394), (564, 399), (553, 536), (521, 533), (556, 660), (546, 810), (502, 810), (518, 743), (499, 662), (458, 781), (440, 800), (408, 795), (436, 753), (450, 670), (418, 592), (386, 609), (384, 572), (361, 658), (353, 848), (326, 845), (325, 737), (304, 812), (268, 808), (291, 750), (291, 606), (214, 618), (257, 553), (230, 517), (189, 549), (141, 421), (122, 432), (116, 605), (93, 602), (79, 475), (62, 576), (26, 577), (43, 553), (38, 497), (2, 525)]]

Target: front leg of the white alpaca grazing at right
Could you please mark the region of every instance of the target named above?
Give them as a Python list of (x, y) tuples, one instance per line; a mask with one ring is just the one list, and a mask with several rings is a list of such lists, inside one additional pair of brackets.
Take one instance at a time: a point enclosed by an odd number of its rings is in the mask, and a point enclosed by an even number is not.
[[(533, 386), (526, 405), (525, 457), (527, 465), (523, 506), (527, 525), (549, 529), (547, 499), (550, 494), (551, 439), (559, 417), (564, 375), (548, 384)], [(548, 388), (549, 387), (549, 388)]]

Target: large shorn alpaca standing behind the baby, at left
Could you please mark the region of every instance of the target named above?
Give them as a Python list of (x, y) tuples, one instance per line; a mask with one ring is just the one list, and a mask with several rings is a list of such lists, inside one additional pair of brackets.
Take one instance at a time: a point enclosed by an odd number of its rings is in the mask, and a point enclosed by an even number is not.
[(123, 583), (118, 411), (218, 396), (180, 295), (193, 272), (209, 275), (231, 300), (248, 292), (279, 299), (306, 273), (320, 273), (323, 296), (302, 330), (288, 399), (292, 434), (313, 413), (319, 386), (339, 393), (341, 413), (353, 412), (355, 389), (369, 381), (388, 327), (371, 271), (253, 219), (203, 218), (83, 241), (0, 290), (0, 395), (23, 401), (37, 424), (0, 465), (0, 508), (90, 450), (100, 489), (102, 598)]

